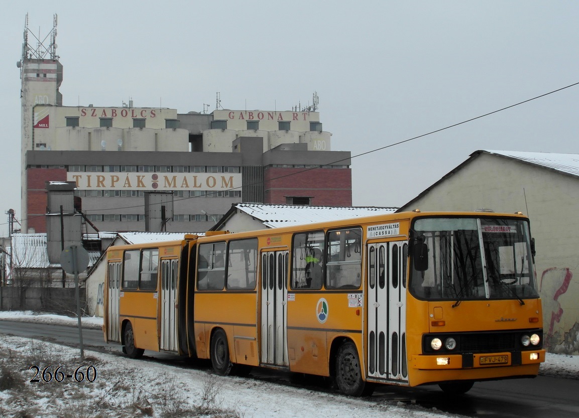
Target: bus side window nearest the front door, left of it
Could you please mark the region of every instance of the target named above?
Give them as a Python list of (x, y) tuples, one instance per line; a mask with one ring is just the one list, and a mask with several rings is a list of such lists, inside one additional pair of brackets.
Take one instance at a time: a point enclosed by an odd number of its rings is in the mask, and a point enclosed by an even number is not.
[(357, 289), (360, 287), (362, 230), (341, 229), (328, 232), (327, 289)]

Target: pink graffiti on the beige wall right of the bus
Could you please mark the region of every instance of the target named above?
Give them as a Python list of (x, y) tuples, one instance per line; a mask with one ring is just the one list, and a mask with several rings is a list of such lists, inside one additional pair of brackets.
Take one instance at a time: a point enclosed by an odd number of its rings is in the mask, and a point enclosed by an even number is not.
[(573, 343), (570, 346), (568, 343), (565, 344), (568, 333), (563, 336), (555, 331), (555, 323), (560, 323), (564, 313), (558, 299), (567, 292), (572, 278), (573, 272), (568, 268), (551, 267), (541, 274), (540, 292), (543, 295), (543, 315), (547, 322), (545, 324), (545, 348), (549, 351), (577, 351)]

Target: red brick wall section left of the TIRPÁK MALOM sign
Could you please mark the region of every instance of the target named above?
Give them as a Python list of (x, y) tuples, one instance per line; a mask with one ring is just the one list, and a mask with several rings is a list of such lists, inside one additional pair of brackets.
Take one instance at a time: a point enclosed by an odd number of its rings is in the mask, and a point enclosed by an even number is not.
[(46, 182), (66, 181), (67, 170), (65, 168), (28, 168), (26, 177), (28, 228), (34, 228), (35, 232), (46, 232), (44, 216), (47, 206)]

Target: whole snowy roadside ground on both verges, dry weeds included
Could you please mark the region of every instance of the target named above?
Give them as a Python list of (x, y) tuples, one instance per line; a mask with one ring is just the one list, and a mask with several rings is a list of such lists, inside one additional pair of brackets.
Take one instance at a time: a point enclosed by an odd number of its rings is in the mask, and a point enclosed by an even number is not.
[[(69, 324), (71, 327), (77, 324), (76, 318), (30, 312), (1, 311), (2, 319)], [(85, 317), (82, 323), (85, 327), (100, 328), (102, 318)], [(452, 416), (417, 405), (376, 403), (321, 390), (240, 377), (219, 377), (198, 369), (131, 360), (91, 350), (85, 350), (85, 358), (80, 359), (78, 349), (31, 339), (3, 336), (0, 350), (2, 417)], [(39, 367), (38, 375), (35, 369), (30, 369), (31, 365)], [(51, 374), (43, 379), (42, 371), (48, 365), (52, 365), (47, 369)], [(58, 365), (63, 368), (55, 373)], [(65, 377), (74, 375), (77, 368), (79, 373), (83, 373), (76, 375), (80, 382), (74, 376)], [(85, 376), (87, 371), (89, 375)], [(547, 354), (540, 374), (577, 379), (579, 356)], [(31, 382), (34, 377), (39, 382)], [(57, 377), (62, 382), (57, 382)]]

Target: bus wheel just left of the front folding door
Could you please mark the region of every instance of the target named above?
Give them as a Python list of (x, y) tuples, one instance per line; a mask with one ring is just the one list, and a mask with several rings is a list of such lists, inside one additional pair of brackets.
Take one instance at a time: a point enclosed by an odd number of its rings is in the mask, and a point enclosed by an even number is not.
[(360, 358), (352, 342), (342, 344), (336, 355), (336, 384), (349, 396), (369, 396), (373, 392), (373, 385), (362, 379)]

